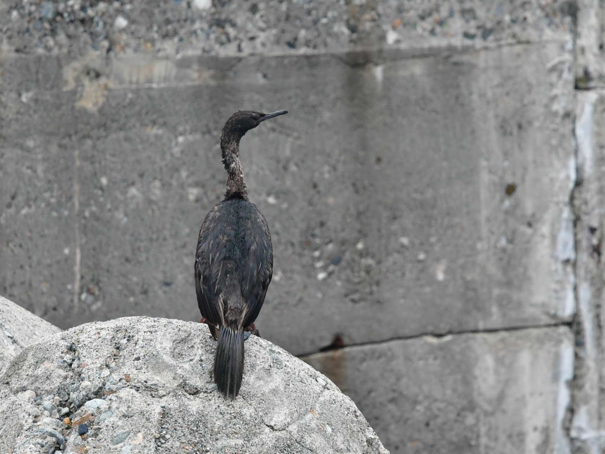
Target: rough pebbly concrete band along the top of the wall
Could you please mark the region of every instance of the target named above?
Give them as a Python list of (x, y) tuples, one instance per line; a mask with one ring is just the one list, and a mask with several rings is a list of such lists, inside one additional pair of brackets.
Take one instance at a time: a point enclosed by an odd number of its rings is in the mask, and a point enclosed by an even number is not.
[(0, 45), (22, 54), (172, 56), (537, 42), (571, 32), (576, 10), (540, 0), (13, 0), (0, 4)]

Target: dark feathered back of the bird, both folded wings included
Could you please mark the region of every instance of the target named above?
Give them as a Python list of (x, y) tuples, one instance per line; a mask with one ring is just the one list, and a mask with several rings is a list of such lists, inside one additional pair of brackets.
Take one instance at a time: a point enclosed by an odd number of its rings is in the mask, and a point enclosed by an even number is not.
[(267, 222), (249, 200), (218, 203), (206, 216), (195, 254), (195, 291), (204, 318), (249, 326), (258, 317), (273, 272)]

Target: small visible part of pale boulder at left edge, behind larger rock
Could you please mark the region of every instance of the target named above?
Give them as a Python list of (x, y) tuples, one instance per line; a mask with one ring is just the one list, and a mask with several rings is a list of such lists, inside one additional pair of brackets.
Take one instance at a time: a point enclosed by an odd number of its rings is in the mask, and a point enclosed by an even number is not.
[(29, 344), (61, 331), (0, 296), (0, 373)]

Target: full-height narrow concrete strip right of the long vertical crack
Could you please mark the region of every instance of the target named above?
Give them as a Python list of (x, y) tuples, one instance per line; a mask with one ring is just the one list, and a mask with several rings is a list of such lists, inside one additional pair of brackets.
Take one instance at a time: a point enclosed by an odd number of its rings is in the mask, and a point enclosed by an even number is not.
[(577, 184), (572, 202), (577, 260), (574, 321), (576, 361), (569, 436), (574, 452), (605, 449), (605, 269), (603, 244), (605, 173), (605, 9), (603, 2), (578, 2), (576, 33), (577, 109), (575, 143)]

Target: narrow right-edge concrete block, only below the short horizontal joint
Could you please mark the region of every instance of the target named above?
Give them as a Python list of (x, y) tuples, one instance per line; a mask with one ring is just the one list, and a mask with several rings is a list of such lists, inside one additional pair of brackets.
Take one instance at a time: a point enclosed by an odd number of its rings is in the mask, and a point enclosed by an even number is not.
[(578, 453), (605, 449), (603, 370), (603, 175), (605, 174), (605, 91), (577, 94), (575, 139), (578, 184), (574, 190), (577, 245), (575, 320), (577, 361), (574, 379), (574, 418), (570, 435)]

